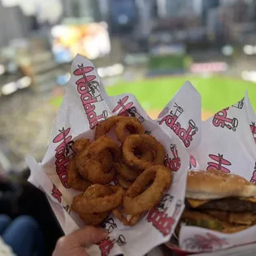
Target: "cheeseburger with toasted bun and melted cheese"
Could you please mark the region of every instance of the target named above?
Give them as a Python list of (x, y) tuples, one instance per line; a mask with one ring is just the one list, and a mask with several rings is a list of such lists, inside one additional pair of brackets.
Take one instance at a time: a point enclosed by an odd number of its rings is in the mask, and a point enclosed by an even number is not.
[(256, 185), (218, 170), (190, 171), (181, 225), (235, 233), (256, 224)]

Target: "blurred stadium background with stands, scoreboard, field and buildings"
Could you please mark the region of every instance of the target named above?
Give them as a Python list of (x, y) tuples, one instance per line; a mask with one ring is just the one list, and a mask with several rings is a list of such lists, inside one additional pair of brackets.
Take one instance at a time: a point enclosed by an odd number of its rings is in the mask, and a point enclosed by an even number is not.
[(0, 20), (0, 173), (45, 154), (77, 53), (153, 118), (186, 80), (203, 119), (256, 107), (255, 0), (2, 0)]

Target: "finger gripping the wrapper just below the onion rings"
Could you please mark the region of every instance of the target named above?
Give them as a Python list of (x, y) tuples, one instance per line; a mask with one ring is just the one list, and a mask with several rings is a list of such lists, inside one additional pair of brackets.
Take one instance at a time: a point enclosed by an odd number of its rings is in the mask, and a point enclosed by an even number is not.
[(70, 234), (70, 239), (76, 241), (80, 246), (87, 246), (90, 244), (97, 244), (103, 239), (107, 238), (107, 230), (98, 229), (93, 226), (87, 226), (80, 230), (74, 231)]

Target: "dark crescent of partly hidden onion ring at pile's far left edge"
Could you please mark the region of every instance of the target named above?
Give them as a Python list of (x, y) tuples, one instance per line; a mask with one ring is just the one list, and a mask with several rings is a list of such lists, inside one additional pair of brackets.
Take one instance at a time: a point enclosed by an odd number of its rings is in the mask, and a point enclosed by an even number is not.
[(76, 164), (77, 156), (74, 156), (69, 160), (68, 171), (68, 183), (69, 186), (75, 190), (86, 191), (86, 189), (92, 185), (88, 180), (85, 180), (79, 173)]

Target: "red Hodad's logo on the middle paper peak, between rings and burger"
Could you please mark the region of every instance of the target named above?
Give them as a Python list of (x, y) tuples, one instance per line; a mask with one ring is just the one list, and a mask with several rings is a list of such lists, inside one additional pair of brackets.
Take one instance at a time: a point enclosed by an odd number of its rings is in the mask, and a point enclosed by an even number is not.
[(178, 135), (180, 140), (183, 141), (183, 144), (188, 148), (193, 140), (193, 136), (197, 133), (197, 125), (192, 119), (188, 121), (187, 128), (183, 128), (181, 124), (178, 122), (178, 118), (183, 114), (183, 108), (178, 106), (177, 103), (174, 102), (174, 109), (169, 112), (168, 115), (164, 116), (160, 121), (159, 125), (165, 124), (173, 130), (173, 132)]

